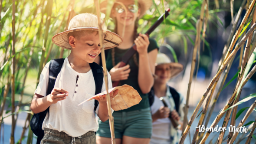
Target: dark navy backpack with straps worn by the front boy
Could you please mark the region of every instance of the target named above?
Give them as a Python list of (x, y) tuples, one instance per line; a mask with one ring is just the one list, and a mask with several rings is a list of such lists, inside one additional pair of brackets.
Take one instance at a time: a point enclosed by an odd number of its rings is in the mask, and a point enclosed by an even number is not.
[[(62, 68), (62, 64), (64, 63), (64, 60), (65, 59), (53, 59), (50, 61), (49, 82), (48, 82), (48, 89), (47, 89), (46, 95), (49, 95), (52, 92), (55, 85), (56, 78)], [(90, 67), (92, 69), (92, 74), (95, 81), (95, 95), (97, 95), (102, 91), (102, 84), (103, 84), (102, 67), (95, 62), (90, 63)], [(94, 110), (96, 110), (98, 106), (97, 100), (95, 100), (94, 105), (95, 105)], [(37, 136), (36, 144), (40, 144), (41, 140), (43, 139), (44, 131), (42, 129), (42, 126), (43, 126), (43, 121), (44, 121), (44, 118), (46, 117), (47, 112), (49, 112), (49, 107), (45, 111), (34, 114), (30, 120), (30, 128), (33, 131), (33, 133)]]

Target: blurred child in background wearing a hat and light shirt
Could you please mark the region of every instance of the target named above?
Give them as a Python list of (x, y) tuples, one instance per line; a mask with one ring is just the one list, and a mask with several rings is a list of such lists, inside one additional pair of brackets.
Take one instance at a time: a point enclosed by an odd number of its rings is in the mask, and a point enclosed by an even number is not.
[[(153, 131), (150, 144), (178, 144), (179, 142), (181, 134), (174, 128), (168, 117), (171, 115), (179, 124), (183, 124), (184, 98), (174, 88), (168, 86), (167, 82), (182, 70), (183, 65), (171, 62), (168, 56), (158, 53), (155, 68), (156, 79), (151, 90), (154, 102), (151, 106)], [(164, 107), (163, 102), (159, 99), (161, 97), (166, 100), (169, 108)]]

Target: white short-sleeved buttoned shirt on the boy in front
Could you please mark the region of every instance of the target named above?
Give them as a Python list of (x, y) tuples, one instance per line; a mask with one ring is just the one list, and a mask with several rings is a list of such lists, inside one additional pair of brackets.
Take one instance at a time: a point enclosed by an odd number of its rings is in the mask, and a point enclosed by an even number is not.
[[(77, 75), (79, 76), (76, 82)], [(49, 78), (49, 62), (43, 68), (35, 93), (46, 96)], [(63, 88), (69, 92), (66, 99), (50, 106), (49, 113), (43, 121), (43, 127), (63, 131), (72, 137), (81, 136), (88, 131), (97, 131), (95, 120), (94, 99), (82, 101), (95, 95), (95, 82), (92, 69), (87, 73), (79, 73), (72, 69), (68, 58), (64, 60), (62, 69), (56, 78), (55, 88)], [(111, 76), (108, 73), (108, 88), (112, 88)], [(103, 79), (102, 92), (106, 90)], [(77, 106), (79, 105), (79, 106)], [(113, 111), (112, 111), (113, 112)], [(96, 109), (98, 114), (98, 107)]]

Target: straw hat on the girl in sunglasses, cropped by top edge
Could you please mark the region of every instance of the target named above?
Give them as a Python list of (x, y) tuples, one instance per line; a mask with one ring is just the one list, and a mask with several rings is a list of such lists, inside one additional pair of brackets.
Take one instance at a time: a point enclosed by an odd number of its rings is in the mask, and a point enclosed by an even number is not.
[[(122, 2), (127, 0), (116, 0), (116, 1)], [(131, 0), (131, 1), (135, 1), (135, 0)], [(137, 1), (139, 3), (139, 8), (141, 9), (141, 13), (138, 16), (138, 18), (141, 18), (146, 13), (146, 11), (151, 7), (152, 0), (137, 0)], [(100, 3), (99, 6), (102, 13), (106, 13), (107, 5), (108, 5), (108, 0), (104, 0)], [(110, 15), (110, 17), (112, 16)]]

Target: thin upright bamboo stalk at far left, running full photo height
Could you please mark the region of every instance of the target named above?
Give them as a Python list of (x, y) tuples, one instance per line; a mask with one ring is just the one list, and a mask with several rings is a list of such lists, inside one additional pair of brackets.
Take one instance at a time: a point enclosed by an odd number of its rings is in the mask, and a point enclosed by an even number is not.
[[(15, 112), (15, 0), (12, 0), (12, 79), (11, 79), (11, 87), (12, 87), (12, 113)], [(10, 138), (10, 144), (14, 144), (14, 130), (15, 130), (15, 117), (12, 115), (12, 128), (11, 128), (11, 138)]]

